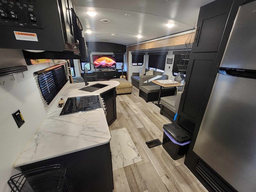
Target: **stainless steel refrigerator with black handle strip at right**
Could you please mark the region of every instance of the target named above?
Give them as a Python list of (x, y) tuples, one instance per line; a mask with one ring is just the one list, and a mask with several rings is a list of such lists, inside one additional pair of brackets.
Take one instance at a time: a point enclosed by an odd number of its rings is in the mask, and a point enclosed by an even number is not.
[(256, 192), (256, 2), (238, 10), (193, 151), (238, 192)]

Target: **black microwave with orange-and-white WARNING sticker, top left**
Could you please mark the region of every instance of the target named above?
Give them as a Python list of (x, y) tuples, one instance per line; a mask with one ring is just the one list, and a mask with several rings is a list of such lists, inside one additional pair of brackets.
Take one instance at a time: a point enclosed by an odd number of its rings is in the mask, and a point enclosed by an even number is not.
[(0, 48), (80, 54), (78, 33), (71, 0), (0, 0)]

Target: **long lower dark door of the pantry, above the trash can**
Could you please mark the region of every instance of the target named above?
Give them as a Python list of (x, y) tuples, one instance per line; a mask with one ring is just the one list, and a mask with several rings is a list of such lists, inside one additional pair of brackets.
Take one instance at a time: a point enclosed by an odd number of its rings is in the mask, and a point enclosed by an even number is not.
[(198, 118), (212, 70), (216, 70), (213, 68), (216, 54), (197, 53), (190, 56), (178, 114), (193, 124)]

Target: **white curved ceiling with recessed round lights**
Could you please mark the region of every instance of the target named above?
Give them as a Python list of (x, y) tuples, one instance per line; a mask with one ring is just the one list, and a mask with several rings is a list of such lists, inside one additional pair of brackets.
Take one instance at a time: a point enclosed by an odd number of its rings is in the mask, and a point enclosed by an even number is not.
[[(84, 28), (86, 42), (111, 42), (123, 45), (190, 30), (197, 21), (200, 7), (212, 1), (72, 0)], [(88, 11), (97, 14), (91, 17), (88, 16)], [(102, 19), (108, 19), (110, 22), (102, 23)], [(174, 24), (174, 27), (168, 28), (168, 22)], [(91, 30), (92, 33), (87, 34), (86, 30)], [(138, 34), (141, 34), (142, 38), (138, 38)]]

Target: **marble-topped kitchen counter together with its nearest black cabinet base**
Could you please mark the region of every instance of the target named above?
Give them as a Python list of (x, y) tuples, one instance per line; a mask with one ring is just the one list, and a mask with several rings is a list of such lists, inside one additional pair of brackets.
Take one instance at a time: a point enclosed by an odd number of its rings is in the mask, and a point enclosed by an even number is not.
[(94, 92), (79, 90), (84, 83), (67, 83), (53, 101), (46, 119), (20, 154), (14, 168), (22, 171), (61, 163), (73, 191), (104, 191), (113, 189), (110, 131), (103, 109), (59, 116), (58, 100), (68, 97), (108, 93), (117, 81), (90, 82), (108, 86)]

